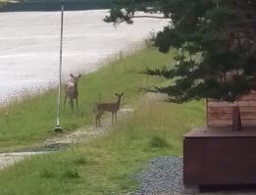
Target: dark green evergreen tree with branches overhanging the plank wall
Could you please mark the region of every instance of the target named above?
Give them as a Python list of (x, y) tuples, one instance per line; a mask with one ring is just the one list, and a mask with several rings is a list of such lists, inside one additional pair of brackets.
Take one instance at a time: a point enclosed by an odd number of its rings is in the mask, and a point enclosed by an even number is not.
[(170, 19), (153, 38), (162, 53), (181, 48), (172, 67), (146, 70), (172, 79), (154, 92), (166, 93), (171, 102), (201, 98), (235, 101), (256, 90), (255, 0), (119, 0), (104, 21), (132, 24), (137, 11), (161, 13)]

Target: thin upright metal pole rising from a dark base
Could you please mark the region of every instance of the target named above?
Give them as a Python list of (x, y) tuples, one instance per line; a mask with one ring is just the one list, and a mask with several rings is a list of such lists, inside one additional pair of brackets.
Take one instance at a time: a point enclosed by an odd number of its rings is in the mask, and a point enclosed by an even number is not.
[(62, 0), (62, 19), (61, 19), (61, 42), (60, 42), (60, 70), (59, 70), (59, 87), (57, 100), (57, 126), (60, 126), (60, 102), (61, 102), (61, 82), (62, 82), (62, 39), (63, 39), (63, 12), (64, 0)]

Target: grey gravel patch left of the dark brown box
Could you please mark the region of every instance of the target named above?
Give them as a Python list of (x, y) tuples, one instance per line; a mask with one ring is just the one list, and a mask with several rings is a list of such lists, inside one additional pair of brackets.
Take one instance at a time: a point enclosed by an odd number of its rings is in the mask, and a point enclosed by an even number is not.
[(141, 181), (141, 185), (137, 191), (129, 193), (130, 195), (183, 192), (181, 157), (158, 157), (144, 166), (148, 169), (132, 175)]

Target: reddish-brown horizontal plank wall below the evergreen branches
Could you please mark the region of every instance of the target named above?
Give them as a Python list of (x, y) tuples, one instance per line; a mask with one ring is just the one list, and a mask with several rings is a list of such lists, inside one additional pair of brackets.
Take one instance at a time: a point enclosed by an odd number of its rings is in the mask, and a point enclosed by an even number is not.
[[(242, 125), (256, 125), (256, 92), (241, 97), (237, 104), (240, 109)], [(232, 119), (233, 103), (206, 100), (207, 105), (207, 125), (224, 126), (230, 125)]]

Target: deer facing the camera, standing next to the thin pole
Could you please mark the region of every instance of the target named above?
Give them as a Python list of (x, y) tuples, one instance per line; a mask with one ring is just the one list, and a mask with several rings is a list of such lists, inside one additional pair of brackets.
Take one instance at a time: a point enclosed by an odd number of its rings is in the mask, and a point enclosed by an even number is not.
[(71, 73), (72, 79), (67, 81), (64, 85), (64, 91), (65, 91), (65, 99), (64, 99), (64, 110), (66, 105), (67, 98), (70, 99), (70, 105), (73, 112), (73, 100), (76, 99), (77, 101), (77, 110), (78, 110), (78, 90), (77, 90), (77, 82), (81, 74), (78, 74), (77, 76), (74, 76)]

